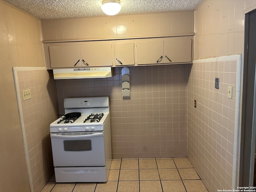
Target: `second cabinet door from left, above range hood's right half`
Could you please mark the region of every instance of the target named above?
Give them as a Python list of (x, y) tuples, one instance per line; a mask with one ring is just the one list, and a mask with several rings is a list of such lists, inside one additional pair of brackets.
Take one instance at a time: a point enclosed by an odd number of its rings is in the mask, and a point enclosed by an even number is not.
[(82, 66), (112, 66), (112, 44), (84, 44), (80, 46)]

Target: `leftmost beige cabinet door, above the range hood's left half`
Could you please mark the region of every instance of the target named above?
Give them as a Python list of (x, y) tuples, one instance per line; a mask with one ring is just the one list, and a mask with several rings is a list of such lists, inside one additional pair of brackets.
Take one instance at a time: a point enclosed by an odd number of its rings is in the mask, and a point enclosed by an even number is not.
[(80, 45), (49, 46), (51, 68), (81, 67)]

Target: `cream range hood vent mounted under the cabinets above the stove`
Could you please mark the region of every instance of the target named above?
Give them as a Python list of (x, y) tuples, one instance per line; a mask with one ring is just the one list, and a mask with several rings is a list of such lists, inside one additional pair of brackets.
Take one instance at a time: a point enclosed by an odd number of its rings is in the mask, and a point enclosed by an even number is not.
[(54, 69), (54, 79), (87, 79), (112, 77), (111, 67)]

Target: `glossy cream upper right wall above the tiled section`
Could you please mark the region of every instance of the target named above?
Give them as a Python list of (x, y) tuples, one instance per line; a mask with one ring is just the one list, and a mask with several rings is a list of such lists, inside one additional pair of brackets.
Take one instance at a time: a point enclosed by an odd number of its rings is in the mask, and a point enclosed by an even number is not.
[(256, 0), (206, 0), (194, 14), (194, 59), (243, 54), (244, 13)]

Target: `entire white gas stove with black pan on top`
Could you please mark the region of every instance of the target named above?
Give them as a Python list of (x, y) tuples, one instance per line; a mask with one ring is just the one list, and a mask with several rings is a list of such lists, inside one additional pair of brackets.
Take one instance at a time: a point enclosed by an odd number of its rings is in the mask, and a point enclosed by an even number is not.
[(66, 98), (50, 124), (56, 182), (106, 182), (112, 161), (108, 97)]

